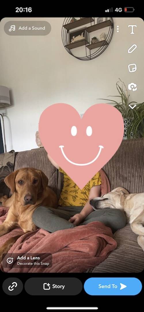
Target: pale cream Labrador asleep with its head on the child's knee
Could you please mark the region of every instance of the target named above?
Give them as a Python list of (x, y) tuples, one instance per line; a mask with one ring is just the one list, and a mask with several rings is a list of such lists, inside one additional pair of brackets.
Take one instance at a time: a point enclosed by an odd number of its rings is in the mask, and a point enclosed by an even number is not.
[(137, 237), (138, 244), (144, 251), (144, 193), (129, 194), (124, 188), (115, 188), (110, 193), (90, 200), (91, 206), (96, 209), (116, 208), (123, 210)]

